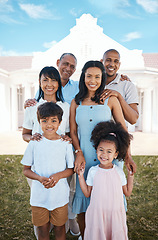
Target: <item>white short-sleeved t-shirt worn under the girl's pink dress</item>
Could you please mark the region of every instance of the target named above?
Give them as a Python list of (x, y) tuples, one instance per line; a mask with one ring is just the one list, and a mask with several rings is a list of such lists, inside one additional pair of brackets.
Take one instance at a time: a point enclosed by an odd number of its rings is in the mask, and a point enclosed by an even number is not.
[[(127, 180), (126, 180), (126, 176), (125, 176), (125, 173), (123, 172), (122, 168), (118, 167), (115, 164), (113, 165), (113, 167), (116, 169), (117, 173), (120, 176), (122, 186), (126, 185), (127, 184)], [(88, 186), (93, 186), (94, 176), (95, 176), (98, 168), (99, 168), (99, 165), (96, 165), (96, 166), (93, 166), (93, 167), (91, 167), (89, 169), (88, 175), (87, 175), (87, 180), (86, 180), (86, 183), (87, 183)], [(103, 169), (103, 170), (110, 171), (111, 169)]]

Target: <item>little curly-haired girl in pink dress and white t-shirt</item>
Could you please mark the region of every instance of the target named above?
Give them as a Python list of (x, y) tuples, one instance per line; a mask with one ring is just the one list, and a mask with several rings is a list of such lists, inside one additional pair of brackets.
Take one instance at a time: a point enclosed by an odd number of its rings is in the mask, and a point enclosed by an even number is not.
[(134, 176), (128, 170), (126, 181), (123, 170), (112, 161), (125, 158), (130, 139), (122, 125), (112, 121), (100, 122), (92, 131), (91, 141), (100, 164), (89, 169), (86, 182), (84, 167), (78, 173), (84, 195), (91, 196), (84, 240), (128, 239), (123, 193), (132, 193)]

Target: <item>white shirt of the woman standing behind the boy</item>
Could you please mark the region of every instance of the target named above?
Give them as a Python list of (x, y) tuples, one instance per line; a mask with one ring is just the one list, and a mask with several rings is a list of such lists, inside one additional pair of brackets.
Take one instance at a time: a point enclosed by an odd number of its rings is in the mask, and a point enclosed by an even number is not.
[[(37, 120), (37, 108), (39, 105), (45, 102), (47, 101), (41, 98), (35, 106), (27, 107), (25, 109), (23, 128), (32, 130), (32, 135), (35, 134), (36, 132), (42, 134), (42, 129)], [(62, 122), (57, 131), (57, 133), (61, 135), (61, 134), (65, 134), (66, 132), (70, 132), (70, 129), (69, 129), (70, 105), (67, 102), (61, 102), (61, 101), (57, 102), (56, 104), (63, 109)]]

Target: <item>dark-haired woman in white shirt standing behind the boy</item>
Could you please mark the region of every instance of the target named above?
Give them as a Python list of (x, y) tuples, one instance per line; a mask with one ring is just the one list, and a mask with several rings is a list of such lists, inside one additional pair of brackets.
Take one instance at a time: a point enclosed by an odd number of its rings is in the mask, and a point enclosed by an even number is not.
[(39, 73), (39, 96), (35, 106), (27, 107), (24, 115), (22, 136), (24, 141), (40, 140), (42, 130), (37, 120), (37, 107), (44, 102), (54, 102), (63, 109), (62, 122), (58, 134), (68, 133), (69, 104), (64, 102), (61, 91), (61, 79), (55, 67), (44, 67)]

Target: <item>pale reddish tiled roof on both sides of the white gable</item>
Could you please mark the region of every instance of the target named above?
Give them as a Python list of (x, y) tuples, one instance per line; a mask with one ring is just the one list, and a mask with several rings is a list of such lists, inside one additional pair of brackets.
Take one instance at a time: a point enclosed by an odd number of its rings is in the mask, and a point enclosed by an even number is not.
[[(158, 53), (143, 53), (145, 67), (158, 69)], [(8, 72), (30, 69), (33, 56), (0, 56), (0, 68)]]

